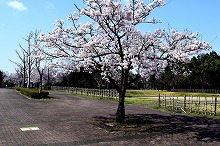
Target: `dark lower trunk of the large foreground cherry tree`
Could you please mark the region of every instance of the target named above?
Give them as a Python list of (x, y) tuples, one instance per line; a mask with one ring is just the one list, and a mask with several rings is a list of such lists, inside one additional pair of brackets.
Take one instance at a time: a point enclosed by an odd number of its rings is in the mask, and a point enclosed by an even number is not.
[(116, 122), (123, 123), (125, 120), (125, 96), (123, 94), (119, 95), (118, 109), (116, 112)]

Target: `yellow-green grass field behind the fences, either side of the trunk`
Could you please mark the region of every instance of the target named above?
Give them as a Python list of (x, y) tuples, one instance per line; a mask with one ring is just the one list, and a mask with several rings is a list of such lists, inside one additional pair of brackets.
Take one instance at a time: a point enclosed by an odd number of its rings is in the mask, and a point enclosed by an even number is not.
[[(65, 91), (66, 92), (66, 91)], [(67, 92), (66, 92), (67, 93)], [(67, 93), (69, 94), (69, 93)], [(101, 97), (101, 96), (93, 96), (93, 95), (87, 95), (87, 94), (74, 94), (73, 95), (81, 96), (81, 97), (88, 97), (88, 98), (96, 98), (100, 100), (107, 100), (111, 102), (118, 102), (118, 98), (108, 98), (108, 97)], [(194, 115), (201, 115), (205, 113), (205, 116), (210, 116), (210, 117), (215, 117), (211, 116), (211, 113), (213, 115), (213, 109), (214, 105), (213, 103), (211, 104), (211, 100), (213, 100), (213, 97), (218, 97), (220, 94), (211, 94), (211, 93), (193, 93), (193, 92), (170, 92), (170, 91), (158, 91), (158, 90), (127, 90), (126, 93), (126, 98), (125, 98), (125, 104), (138, 104), (144, 107), (148, 108), (154, 108), (154, 109), (162, 109), (162, 110), (170, 110), (167, 107), (159, 106), (158, 105), (158, 94), (161, 95), (161, 99), (163, 99), (162, 96), (166, 95), (167, 97), (167, 102), (169, 102), (172, 98), (177, 98), (178, 97), (178, 102), (174, 101), (175, 107), (182, 107), (183, 106), (183, 100), (184, 96), (186, 96), (187, 102), (186, 102), (186, 109), (184, 113), (187, 114), (194, 114)], [(193, 99), (192, 99), (193, 97)], [(200, 98), (199, 98), (200, 97)], [(205, 98), (207, 97), (207, 98)], [(200, 99), (201, 104), (198, 106), (196, 100)], [(207, 100), (206, 100), (207, 99)], [(188, 104), (191, 103), (189, 102), (193, 101), (193, 103), (189, 106)], [(204, 104), (204, 101), (206, 101), (208, 104)], [(217, 103), (217, 115), (220, 118), (220, 100), (218, 100)], [(213, 101), (212, 101), (213, 102)], [(177, 105), (178, 103), (178, 105)], [(167, 103), (168, 105), (168, 103)], [(172, 108), (172, 107), (171, 107)], [(206, 114), (207, 113), (207, 114)], [(216, 117), (215, 117), (216, 118)]]

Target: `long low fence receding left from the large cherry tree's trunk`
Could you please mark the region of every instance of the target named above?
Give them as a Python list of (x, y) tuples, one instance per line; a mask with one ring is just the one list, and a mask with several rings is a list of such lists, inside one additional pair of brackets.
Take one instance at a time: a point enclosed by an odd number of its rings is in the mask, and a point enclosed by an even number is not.
[(77, 87), (52, 86), (51, 90), (66, 91), (68, 93), (79, 95), (98, 96), (101, 98), (117, 99), (119, 97), (118, 92), (114, 89), (89, 89)]

